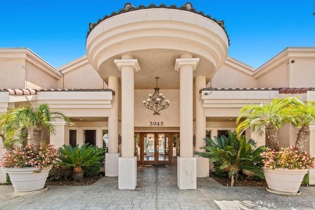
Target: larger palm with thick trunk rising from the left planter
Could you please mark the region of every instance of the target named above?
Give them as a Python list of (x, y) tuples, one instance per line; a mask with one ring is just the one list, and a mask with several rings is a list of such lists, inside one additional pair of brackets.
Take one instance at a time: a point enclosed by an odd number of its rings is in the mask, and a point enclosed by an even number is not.
[(43, 130), (51, 135), (55, 135), (56, 129), (52, 122), (60, 119), (70, 125), (70, 120), (60, 112), (50, 111), (50, 108), (46, 103), (42, 103), (35, 107), (32, 101), (29, 102), (31, 106), (15, 108), (9, 115), (13, 116), (11, 124), (13, 126), (20, 126), (20, 136), (24, 141), (28, 136), (29, 128), (33, 129), (33, 146), (34, 151), (37, 152), (40, 146)]

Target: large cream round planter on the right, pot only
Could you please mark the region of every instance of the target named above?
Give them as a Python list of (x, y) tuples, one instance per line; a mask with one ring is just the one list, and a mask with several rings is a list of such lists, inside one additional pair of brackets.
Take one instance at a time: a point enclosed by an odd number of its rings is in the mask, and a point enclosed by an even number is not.
[(309, 169), (268, 169), (263, 168), (267, 191), (281, 195), (299, 195), (304, 175)]

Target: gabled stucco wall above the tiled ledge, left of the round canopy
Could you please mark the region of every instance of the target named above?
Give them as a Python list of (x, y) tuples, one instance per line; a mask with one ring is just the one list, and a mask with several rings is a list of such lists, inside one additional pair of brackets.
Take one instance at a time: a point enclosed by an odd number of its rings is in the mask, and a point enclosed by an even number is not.
[[(118, 71), (118, 70), (117, 70)], [(63, 71), (64, 72), (64, 71)], [(90, 63), (81, 65), (64, 74), (65, 89), (102, 89), (108, 88), (107, 84), (99, 77), (98, 73)], [(63, 88), (63, 79), (58, 83), (59, 88)]]

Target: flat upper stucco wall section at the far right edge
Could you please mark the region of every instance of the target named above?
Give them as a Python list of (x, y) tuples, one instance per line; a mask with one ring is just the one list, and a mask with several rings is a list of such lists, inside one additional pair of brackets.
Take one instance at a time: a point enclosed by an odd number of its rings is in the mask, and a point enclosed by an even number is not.
[(315, 87), (315, 59), (295, 59), (289, 63), (290, 87), (307, 88)]

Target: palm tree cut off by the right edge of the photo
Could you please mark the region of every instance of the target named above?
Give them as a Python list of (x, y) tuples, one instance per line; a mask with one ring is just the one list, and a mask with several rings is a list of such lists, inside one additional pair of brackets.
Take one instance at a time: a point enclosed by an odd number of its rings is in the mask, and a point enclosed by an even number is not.
[(300, 127), (295, 146), (298, 146), (303, 150), (304, 144), (310, 137), (310, 125), (315, 124), (315, 102), (305, 102), (299, 100), (299, 103), (296, 105), (291, 105), (287, 109), (295, 119), (292, 124), (296, 127)]

